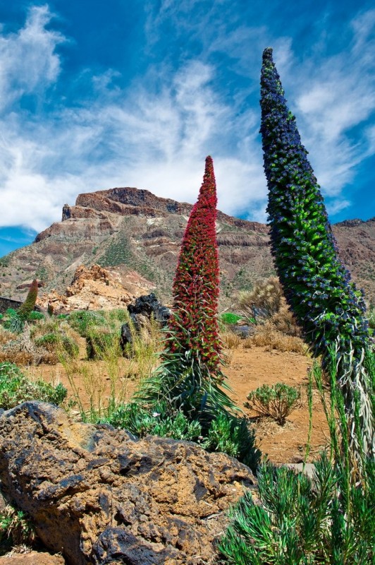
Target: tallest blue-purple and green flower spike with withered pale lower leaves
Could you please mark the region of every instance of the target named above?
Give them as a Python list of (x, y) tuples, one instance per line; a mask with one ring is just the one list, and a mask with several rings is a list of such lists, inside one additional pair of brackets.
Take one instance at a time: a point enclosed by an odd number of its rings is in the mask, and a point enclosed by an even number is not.
[(278, 276), (306, 339), (326, 368), (334, 351), (352, 453), (369, 454), (374, 417), (364, 366), (369, 346), (364, 300), (338, 259), (319, 184), (286, 105), (271, 48), (263, 54), (260, 104), (267, 211)]

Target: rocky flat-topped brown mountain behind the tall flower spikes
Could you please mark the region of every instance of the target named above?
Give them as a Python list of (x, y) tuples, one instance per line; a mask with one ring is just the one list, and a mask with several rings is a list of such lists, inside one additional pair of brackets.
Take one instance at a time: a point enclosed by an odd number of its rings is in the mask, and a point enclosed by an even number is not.
[[(0, 259), (0, 295), (22, 299), (35, 277), (42, 281), (43, 292), (64, 293), (79, 266), (90, 269), (96, 264), (125, 288), (153, 288), (168, 302), (191, 208), (128, 187), (80, 194), (75, 206), (63, 206), (61, 222)], [(347, 220), (334, 225), (333, 232), (353, 279), (364, 289), (367, 302), (375, 302), (375, 218)], [(266, 225), (219, 212), (217, 234), (224, 308), (238, 290), (275, 270)]]

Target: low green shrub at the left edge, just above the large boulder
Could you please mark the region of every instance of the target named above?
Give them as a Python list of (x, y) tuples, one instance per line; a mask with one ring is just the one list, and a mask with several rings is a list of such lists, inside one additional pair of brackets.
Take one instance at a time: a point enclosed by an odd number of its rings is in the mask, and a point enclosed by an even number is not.
[(59, 383), (52, 386), (42, 380), (30, 381), (17, 365), (0, 363), (0, 408), (9, 410), (27, 400), (42, 400), (60, 405), (65, 400), (66, 388)]

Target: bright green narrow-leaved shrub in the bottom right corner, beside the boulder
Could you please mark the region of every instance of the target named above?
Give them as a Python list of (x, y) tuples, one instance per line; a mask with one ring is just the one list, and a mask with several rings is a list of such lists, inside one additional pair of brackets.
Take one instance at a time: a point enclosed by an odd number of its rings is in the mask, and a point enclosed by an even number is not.
[(259, 498), (247, 492), (231, 511), (219, 545), (230, 565), (369, 565), (374, 563), (375, 504), (372, 482), (362, 489), (326, 455), (316, 460), (314, 479), (264, 463)]

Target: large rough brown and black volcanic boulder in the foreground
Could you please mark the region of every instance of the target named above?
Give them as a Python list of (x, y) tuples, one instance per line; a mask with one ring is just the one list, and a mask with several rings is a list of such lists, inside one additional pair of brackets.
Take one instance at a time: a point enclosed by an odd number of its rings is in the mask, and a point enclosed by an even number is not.
[(75, 423), (28, 402), (0, 415), (0, 481), (68, 565), (212, 564), (254, 477), (196, 444)]

